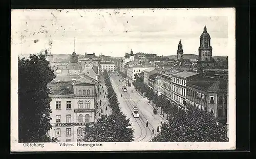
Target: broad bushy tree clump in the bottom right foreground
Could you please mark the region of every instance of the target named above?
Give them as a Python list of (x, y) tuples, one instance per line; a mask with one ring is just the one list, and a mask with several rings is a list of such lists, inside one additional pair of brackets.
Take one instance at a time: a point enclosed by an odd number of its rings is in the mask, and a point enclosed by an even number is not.
[(207, 111), (194, 110), (176, 113), (168, 124), (161, 126), (154, 142), (226, 142), (227, 128)]

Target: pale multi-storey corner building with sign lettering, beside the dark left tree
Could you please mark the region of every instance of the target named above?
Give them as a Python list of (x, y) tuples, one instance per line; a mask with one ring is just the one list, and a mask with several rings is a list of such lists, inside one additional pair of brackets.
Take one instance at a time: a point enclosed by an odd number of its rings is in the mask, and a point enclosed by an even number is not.
[(77, 142), (83, 138), (82, 128), (95, 122), (95, 85), (78, 82), (51, 82), (52, 99), (49, 136), (57, 142)]

